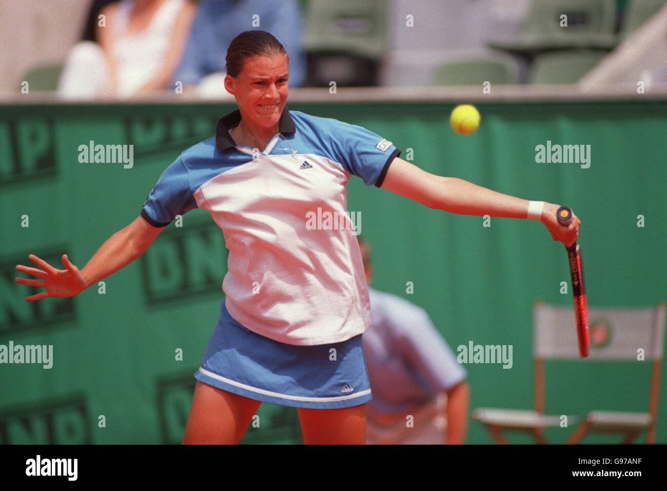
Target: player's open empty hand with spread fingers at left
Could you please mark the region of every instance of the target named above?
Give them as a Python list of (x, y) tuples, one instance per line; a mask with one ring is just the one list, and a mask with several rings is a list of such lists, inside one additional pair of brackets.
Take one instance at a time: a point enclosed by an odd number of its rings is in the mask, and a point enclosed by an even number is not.
[(33, 275), (37, 279), (17, 278), (16, 283), (31, 287), (45, 287), (46, 291), (25, 297), (27, 301), (32, 302), (47, 297), (73, 297), (74, 295), (79, 295), (85, 289), (85, 279), (81, 271), (67, 259), (67, 255), (63, 254), (61, 258), (65, 269), (55, 269), (49, 263), (33, 254), (29, 255), (28, 259), (39, 266), (40, 269), (23, 265), (17, 265), (16, 269)]

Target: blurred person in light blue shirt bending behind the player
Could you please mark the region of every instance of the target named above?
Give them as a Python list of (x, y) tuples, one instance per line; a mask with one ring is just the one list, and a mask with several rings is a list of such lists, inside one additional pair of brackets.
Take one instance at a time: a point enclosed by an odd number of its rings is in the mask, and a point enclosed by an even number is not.
[[(358, 239), (370, 285), (370, 246)], [(470, 399), (466, 370), (424, 309), (370, 287), (368, 295), (371, 328), (362, 337), (373, 392), (368, 444), (463, 444)]]

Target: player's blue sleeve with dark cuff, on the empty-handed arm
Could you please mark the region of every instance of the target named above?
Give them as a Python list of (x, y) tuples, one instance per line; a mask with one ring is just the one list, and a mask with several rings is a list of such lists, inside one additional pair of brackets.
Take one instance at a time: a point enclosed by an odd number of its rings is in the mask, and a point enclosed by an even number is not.
[(162, 172), (141, 209), (141, 216), (153, 226), (167, 226), (176, 215), (197, 208), (190, 189), (187, 168), (181, 156)]

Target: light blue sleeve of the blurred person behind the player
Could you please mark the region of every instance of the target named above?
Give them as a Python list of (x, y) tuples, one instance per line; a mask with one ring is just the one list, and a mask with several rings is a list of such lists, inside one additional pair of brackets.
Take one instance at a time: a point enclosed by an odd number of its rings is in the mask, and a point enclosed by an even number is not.
[[(397, 349), (408, 366), (426, 383), (432, 395), (447, 391), (466, 379), (466, 369), (420, 307), (393, 315)], [(398, 322), (397, 322), (398, 321)]]

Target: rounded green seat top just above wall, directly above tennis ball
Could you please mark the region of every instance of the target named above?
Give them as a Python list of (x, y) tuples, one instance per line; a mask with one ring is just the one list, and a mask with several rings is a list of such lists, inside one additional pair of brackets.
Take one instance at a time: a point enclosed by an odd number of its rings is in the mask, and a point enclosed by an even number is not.
[(436, 67), (432, 81), (435, 86), (481, 85), (485, 81), (492, 84), (518, 84), (519, 69), (516, 63), (504, 59), (462, 59)]

